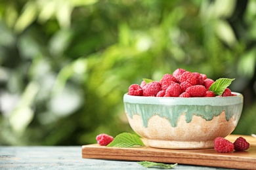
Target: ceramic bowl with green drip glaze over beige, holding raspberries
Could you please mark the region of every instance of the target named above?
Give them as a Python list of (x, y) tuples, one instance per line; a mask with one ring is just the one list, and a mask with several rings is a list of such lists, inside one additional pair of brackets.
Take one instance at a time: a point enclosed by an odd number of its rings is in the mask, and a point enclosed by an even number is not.
[(213, 148), (234, 131), (244, 97), (123, 97), (132, 129), (156, 148)]

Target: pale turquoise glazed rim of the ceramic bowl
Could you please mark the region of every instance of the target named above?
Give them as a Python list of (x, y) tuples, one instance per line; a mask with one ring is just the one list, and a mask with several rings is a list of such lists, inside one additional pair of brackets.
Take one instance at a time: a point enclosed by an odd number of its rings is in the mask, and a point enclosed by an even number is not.
[(243, 103), (242, 93), (232, 92), (232, 96), (228, 97), (148, 97), (128, 95), (125, 93), (123, 102), (125, 103), (140, 103), (154, 105), (236, 105)]

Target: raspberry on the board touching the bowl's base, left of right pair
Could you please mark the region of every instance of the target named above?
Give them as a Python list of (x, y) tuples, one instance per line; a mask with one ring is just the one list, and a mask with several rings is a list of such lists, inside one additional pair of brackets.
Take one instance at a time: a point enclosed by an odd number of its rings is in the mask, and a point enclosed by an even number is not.
[(214, 149), (217, 152), (233, 152), (234, 144), (223, 137), (216, 137), (214, 139)]

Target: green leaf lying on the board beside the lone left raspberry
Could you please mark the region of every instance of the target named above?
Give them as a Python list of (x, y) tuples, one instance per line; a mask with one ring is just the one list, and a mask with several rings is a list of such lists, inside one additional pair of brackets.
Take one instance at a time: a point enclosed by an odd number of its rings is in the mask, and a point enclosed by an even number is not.
[(110, 147), (120, 147), (120, 148), (131, 148), (134, 146), (145, 146), (141, 141), (140, 137), (133, 135), (131, 133), (121, 133), (117, 135), (112, 143), (108, 144)]

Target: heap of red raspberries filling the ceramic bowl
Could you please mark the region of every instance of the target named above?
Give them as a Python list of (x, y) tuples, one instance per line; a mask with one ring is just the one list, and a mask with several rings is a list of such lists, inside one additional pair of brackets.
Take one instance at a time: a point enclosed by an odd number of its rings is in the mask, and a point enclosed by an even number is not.
[[(151, 97), (215, 97), (209, 91), (215, 82), (201, 73), (191, 73), (185, 69), (176, 69), (173, 74), (165, 74), (160, 81), (146, 84), (144, 80), (139, 84), (129, 86), (129, 95)], [(220, 96), (231, 96), (231, 90), (226, 88)]]

